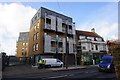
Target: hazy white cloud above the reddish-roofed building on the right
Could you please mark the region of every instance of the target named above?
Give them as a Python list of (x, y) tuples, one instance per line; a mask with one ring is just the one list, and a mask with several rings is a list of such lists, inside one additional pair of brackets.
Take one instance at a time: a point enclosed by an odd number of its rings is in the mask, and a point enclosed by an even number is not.
[(95, 28), (96, 33), (107, 39), (118, 39), (118, 4), (110, 3), (89, 14), (88, 20), (77, 29), (90, 31)]

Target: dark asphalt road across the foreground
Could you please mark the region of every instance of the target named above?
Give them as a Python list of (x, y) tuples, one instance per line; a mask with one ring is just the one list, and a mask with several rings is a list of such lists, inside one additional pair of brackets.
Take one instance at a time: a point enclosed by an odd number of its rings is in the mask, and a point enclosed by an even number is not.
[(31, 73), (31, 74), (21, 74), (21, 75), (11, 75), (11, 76), (3, 76), (4, 78), (40, 78), (43, 80), (48, 79), (93, 79), (93, 80), (116, 80), (115, 73), (106, 73), (106, 72), (99, 72), (97, 67), (88, 67), (85, 69), (77, 69), (77, 70), (68, 70), (68, 71), (46, 71), (42, 73)]

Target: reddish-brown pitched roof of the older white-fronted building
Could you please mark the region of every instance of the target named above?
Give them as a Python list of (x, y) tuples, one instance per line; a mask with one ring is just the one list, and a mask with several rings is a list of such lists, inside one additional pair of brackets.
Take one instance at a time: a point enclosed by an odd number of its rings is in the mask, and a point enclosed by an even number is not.
[(95, 32), (82, 31), (82, 30), (76, 30), (76, 35), (102, 38), (100, 35), (98, 35), (98, 34), (95, 33)]

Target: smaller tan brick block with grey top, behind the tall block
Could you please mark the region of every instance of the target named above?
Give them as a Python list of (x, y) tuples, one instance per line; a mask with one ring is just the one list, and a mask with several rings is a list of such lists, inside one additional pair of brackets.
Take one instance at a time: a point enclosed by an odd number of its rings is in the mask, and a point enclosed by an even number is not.
[(17, 47), (16, 57), (19, 57), (21, 59), (29, 57), (28, 41), (29, 41), (29, 32), (20, 32), (16, 46)]

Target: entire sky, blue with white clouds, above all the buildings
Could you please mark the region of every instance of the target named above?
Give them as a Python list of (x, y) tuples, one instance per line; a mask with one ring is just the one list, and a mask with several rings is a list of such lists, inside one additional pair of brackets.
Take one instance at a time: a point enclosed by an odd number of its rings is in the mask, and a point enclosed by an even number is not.
[(73, 18), (76, 29), (95, 28), (105, 40), (118, 37), (117, 2), (3, 2), (0, 3), (0, 52), (15, 54), (19, 32), (29, 31), (30, 20), (41, 6)]

